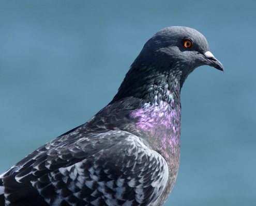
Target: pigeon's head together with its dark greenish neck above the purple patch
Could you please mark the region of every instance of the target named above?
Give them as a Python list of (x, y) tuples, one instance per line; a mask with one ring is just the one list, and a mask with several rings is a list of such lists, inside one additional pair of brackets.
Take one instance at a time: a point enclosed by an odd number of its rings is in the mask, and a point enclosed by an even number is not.
[(179, 93), (188, 75), (202, 65), (223, 71), (200, 32), (182, 26), (164, 28), (146, 42), (114, 99), (144, 98), (154, 88)]

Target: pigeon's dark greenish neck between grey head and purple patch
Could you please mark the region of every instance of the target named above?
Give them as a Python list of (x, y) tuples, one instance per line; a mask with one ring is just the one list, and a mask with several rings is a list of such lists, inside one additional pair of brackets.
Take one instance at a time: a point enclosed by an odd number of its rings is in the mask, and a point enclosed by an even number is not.
[(131, 68), (111, 103), (126, 97), (139, 98), (153, 106), (162, 101), (168, 104), (179, 102), (182, 79), (182, 75), (175, 70), (167, 72), (154, 68)]

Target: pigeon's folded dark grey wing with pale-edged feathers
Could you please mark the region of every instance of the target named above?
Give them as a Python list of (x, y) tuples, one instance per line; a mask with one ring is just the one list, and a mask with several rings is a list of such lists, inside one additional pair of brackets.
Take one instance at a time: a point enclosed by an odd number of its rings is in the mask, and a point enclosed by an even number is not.
[(68, 143), (65, 138), (42, 146), (2, 176), (7, 203), (157, 205), (168, 166), (138, 136), (108, 131)]

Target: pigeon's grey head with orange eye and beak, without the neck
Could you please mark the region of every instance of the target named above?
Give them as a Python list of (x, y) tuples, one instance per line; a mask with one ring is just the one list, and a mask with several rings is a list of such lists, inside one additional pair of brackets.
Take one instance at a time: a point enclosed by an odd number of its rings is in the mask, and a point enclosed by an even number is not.
[(201, 65), (223, 71), (222, 64), (209, 52), (205, 37), (195, 29), (182, 26), (167, 27), (157, 32), (144, 45), (137, 60), (139, 63), (145, 60), (144, 64), (148, 62), (150, 65), (161, 62), (167, 70), (176, 69), (184, 73), (190, 73)]

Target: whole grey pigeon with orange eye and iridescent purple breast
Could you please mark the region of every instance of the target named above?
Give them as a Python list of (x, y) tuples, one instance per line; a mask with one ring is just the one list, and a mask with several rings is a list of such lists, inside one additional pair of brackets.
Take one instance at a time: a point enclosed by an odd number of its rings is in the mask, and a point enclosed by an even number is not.
[(0, 176), (0, 205), (163, 205), (179, 167), (180, 90), (201, 65), (223, 71), (200, 32), (157, 32), (106, 107)]

